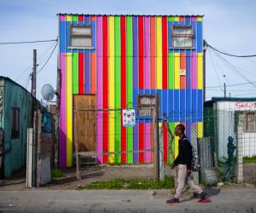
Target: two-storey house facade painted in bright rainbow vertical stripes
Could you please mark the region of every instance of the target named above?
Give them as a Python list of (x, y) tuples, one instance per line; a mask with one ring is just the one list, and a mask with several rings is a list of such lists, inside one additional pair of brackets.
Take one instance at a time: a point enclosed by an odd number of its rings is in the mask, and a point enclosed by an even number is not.
[[(73, 95), (95, 95), (96, 109), (137, 108), (138, 94), (158, 94), (171, 130), (186, 124), (189, 138), (203, 134), (201, 15), (59, 14), (61, 167), (72, 165)], [(96, 152), (152, 149), (150, 120), (124, 127), (121, 117), (96, 117)], [(193, 130), (193, 131), (192, 131)], [(175, 139), (177, 149), (177, 139)], [(152, 153), (99, 156), (103, 164), (151, 163)], [(164, 128), (164, 160), (167, 131)]]

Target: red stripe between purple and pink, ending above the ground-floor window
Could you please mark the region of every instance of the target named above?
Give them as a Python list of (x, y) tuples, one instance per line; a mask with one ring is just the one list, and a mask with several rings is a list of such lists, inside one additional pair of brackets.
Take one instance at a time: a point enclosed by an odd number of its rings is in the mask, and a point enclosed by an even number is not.
[[(143, 34), (143, 16), (138, 18), (138, 49), (139, 49), (139, 89), (144, 88), (144, 34)], [(148, 71), (147, 71), (148, 72)]]

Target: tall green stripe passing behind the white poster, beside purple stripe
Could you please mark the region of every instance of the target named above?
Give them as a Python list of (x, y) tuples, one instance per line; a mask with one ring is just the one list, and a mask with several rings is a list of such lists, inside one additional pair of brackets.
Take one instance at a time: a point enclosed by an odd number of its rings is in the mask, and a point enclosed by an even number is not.
[[(132, 108), (132, 18), (127, 16), (127, 108)], [(127, 128), (127, 150), (133, 150), (133, 127)], [(133, 164), (133, 153), (127, 153), (127, 163)]]

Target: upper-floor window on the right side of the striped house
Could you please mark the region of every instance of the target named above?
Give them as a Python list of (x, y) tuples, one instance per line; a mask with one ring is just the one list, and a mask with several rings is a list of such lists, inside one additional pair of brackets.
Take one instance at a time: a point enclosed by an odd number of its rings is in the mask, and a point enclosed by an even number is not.
[(193, 48), (192, 26), (172, 26), (172, 48)]

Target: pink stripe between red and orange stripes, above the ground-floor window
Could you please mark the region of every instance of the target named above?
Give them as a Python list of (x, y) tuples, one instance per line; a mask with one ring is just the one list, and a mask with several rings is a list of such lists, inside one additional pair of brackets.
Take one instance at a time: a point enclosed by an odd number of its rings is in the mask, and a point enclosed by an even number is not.
[(145, 17), (145, 89), (150, 89), (150, 37), (149, 37), (149, 16)]

